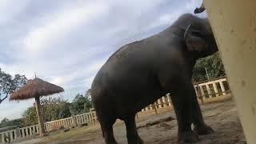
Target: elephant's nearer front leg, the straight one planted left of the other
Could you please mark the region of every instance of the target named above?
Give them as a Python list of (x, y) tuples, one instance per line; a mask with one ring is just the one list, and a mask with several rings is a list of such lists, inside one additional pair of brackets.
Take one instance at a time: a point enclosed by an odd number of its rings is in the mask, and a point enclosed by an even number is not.
[[(177, 84), (177, 83), (176, 83)], [(192, 89), (190, 84), (182, 82), (172, 90), (172, 102), (174, 105), (175, 114), (178, 121), (178, 141), (179, 142), (197, 142), (198, 134), (191, 130), (193, 122), (193, 104)]]

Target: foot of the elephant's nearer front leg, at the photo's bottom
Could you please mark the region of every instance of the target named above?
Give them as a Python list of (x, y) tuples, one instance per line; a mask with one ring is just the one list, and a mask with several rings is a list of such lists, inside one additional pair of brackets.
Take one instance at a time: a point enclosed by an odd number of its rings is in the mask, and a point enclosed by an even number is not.
[(194, 131), (185, 131), (178, 134), (178, 141), (180, 144), (186, 143), (186, 142), (198, 142), (198, 134)]

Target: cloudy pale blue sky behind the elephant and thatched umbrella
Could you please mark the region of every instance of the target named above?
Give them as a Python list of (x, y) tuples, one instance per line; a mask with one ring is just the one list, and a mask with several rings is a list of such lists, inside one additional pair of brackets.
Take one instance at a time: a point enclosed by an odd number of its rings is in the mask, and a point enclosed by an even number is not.
[[(119, 47), (157, 34), (201, 4), (202, 0), (0, 0), (0, 68), (27, 78), (36, 74), (62, 86), (65, 92), (57, 95), (72, 101), (90, 88)], [(34, 99), (6, 99), (0, 104), (0, 121), (21, 118), (33, 103)]]

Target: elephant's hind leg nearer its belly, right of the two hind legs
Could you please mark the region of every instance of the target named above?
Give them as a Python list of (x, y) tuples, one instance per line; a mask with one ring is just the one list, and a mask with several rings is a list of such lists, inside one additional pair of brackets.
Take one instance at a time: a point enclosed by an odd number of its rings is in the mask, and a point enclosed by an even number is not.
[(143, 144), (142, 138), (139, 137), (136, 122), (135, 122), (135, 114), (131, 114), (124, 118), (126, 123), (126, 136), (128, 140), (128, 144)]

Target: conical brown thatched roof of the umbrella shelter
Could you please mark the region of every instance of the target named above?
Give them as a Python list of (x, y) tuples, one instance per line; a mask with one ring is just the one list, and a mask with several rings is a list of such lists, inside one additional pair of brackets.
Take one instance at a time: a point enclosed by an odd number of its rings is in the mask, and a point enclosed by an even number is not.
[(34, 78), (25, 86), (10, 95), (10, 100), (22, 100), (56, 94), (64, 91), (60, 86), (56, 86), (50, 82), (43, 81), (40, 78)]

